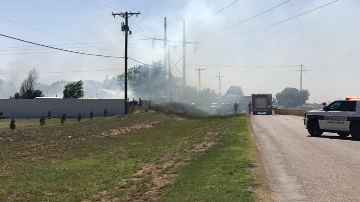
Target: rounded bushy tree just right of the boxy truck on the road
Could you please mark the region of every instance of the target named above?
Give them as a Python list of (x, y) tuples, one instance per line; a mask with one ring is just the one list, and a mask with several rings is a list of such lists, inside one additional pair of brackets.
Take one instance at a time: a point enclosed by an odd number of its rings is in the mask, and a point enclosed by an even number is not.
[(279, 105), (285, 108), (296, 107), (306, 103), (310, 93), (307, 90), (302, 90), (301, 93), (297, 88), (285, 88), (280, 93), (276, 93), (276, 100)]

